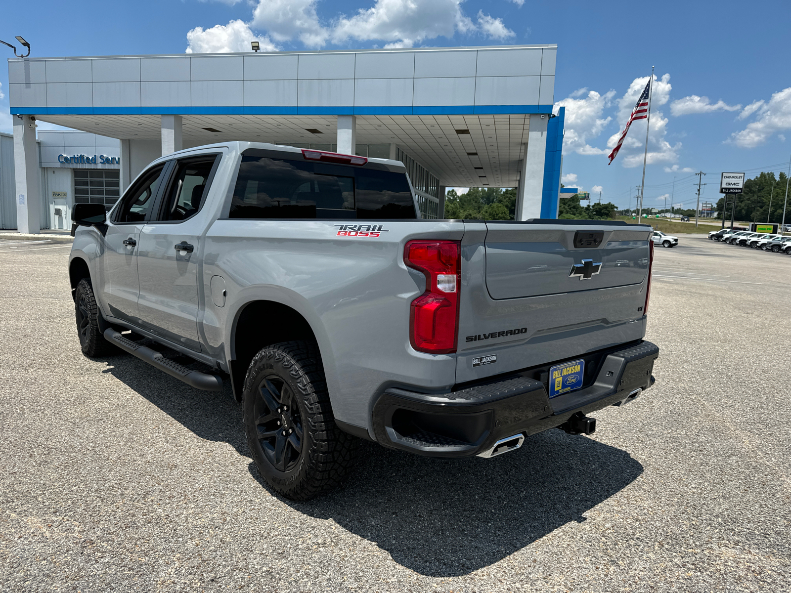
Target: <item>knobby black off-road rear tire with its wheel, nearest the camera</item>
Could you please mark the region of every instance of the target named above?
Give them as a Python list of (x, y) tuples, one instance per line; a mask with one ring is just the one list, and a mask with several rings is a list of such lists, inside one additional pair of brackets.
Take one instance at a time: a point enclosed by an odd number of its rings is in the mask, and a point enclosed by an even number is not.
[[(286, 401), (293, 404), (278, 412)], [(283, 497), (308, 500), (334, 489), (350, 474), (358, 438), (335, 425), (315, 342), (281, 342), (261, 349), (248, 367), (242, 405), (252, 459), (267, 484)], [(271, 410), (274, 405), (278, 407)], [(285, 425), (293, 431), (287, 438), (278, 429)], [(300, 430), (297, 452), (292, 434)], [(287, 442), (278, 462), (281, 437)]]

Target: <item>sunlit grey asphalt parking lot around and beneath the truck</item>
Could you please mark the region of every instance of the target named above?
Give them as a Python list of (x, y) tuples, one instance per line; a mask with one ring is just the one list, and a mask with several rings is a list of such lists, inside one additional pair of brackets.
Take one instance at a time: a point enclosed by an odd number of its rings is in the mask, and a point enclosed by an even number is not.
[(656, 386), (494, 459), (363, 444), (273, 496), (229, 392), (92, 361), (62, 244), (0, 241), (4, 591), (787, 591), (791, 258), (658, 248)]

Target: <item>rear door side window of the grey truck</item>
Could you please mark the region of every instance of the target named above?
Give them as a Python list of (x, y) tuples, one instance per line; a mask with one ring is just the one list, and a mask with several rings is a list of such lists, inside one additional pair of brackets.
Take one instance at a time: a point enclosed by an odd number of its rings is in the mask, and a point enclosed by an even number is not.
[(162, 200), (162, 211), (158, 220), (184, 221), (200, 210), (209, 193), (211, 170), (218, 158), (212, 154), (183, 159), (176, 163)]

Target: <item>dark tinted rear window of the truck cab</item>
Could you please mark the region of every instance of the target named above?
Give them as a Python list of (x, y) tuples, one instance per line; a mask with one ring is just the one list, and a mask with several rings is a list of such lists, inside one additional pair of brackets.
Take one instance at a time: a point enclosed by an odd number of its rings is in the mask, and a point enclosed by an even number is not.
[(243, 156), (231, 218), (415, 218), (404, 173)]

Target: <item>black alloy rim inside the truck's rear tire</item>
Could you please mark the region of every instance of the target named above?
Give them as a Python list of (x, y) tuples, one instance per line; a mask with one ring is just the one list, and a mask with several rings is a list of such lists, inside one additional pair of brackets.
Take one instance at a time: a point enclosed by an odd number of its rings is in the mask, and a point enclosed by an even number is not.
[(277, 375), (263, 378), (255, 398), (255, 429), (267, 461), (292, 470), (302, 452), (302, 416), (289, 385)]

